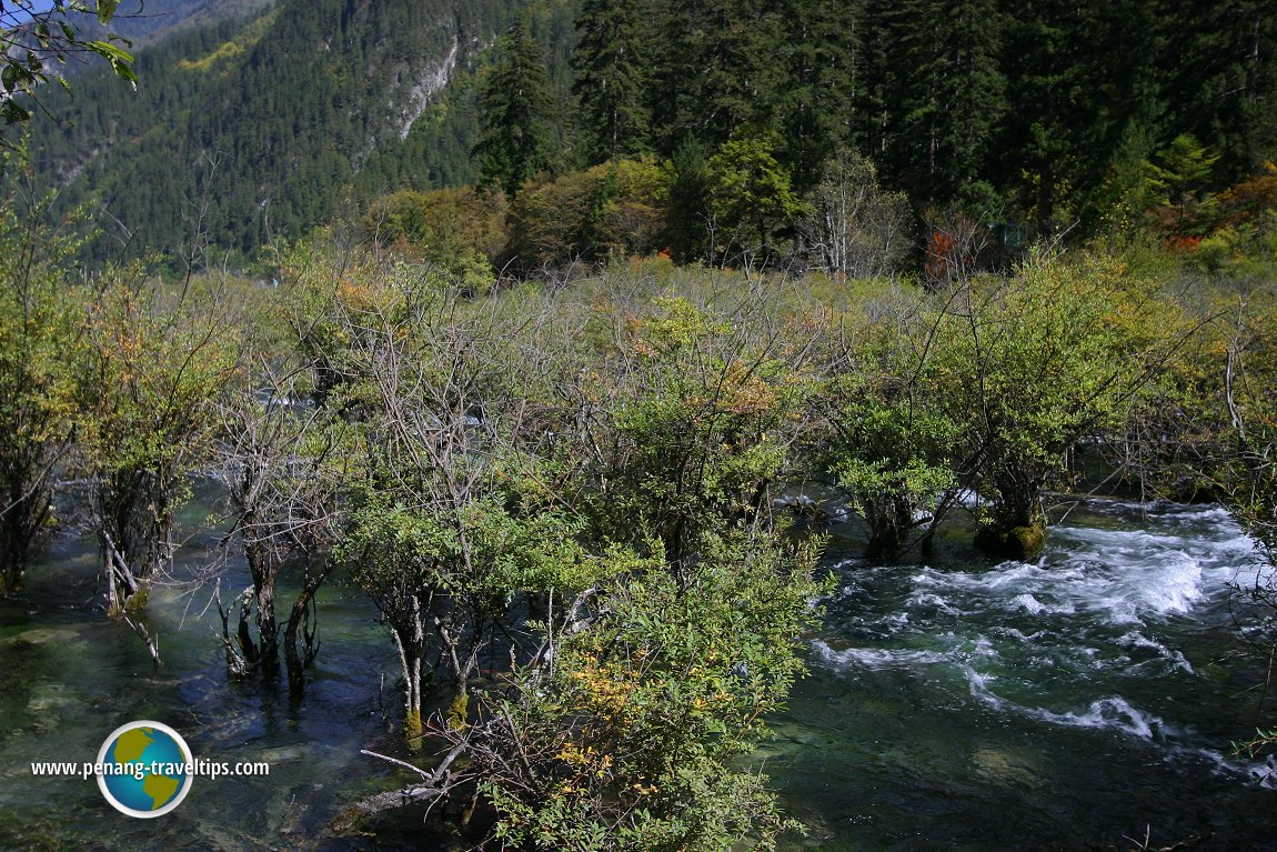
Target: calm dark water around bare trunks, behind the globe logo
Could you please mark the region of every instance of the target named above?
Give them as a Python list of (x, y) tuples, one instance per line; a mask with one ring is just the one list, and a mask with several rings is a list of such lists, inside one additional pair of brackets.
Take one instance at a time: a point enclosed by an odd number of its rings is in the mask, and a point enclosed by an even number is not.
[[(345, 806), (402, 783), (359, 754), (400, 745), (396, 663), (361, 593), (341, 581), (324, 590), (322, 648), (299, 701), (282, 682), (227, 681), (211, 589), (152, 593), (148, 623), (165, 660), (156, 671), (140, 641), (102, 614), (86, 543), (63, 540), (50, 557), (23, 600), (0, 602), (0, 848), (410, 848), (406, 838), (323, 837)], [(223, 598), (248, 577), (229, 580)], [(31, 761), (92, 761), (134, 719), (171, 726), (197, 757), (268, 761), (269, 775), (195, 778), (155, 820), (112, 811), (92, 779), (32, 778)]]

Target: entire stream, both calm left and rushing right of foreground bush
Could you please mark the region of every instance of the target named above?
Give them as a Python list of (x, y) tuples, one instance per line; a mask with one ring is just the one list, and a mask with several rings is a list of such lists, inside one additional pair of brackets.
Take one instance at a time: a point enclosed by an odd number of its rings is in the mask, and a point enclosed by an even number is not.
[[(1094, 501), (1033, 565), (982, 561), (956, 539), (925, 565), (839, 552), (811, 676), (764, 750), (811, 829), (789, 847), (1130, 849), (1124, 837), (1148, 832), (1153, 847), (1277, 848), (1277, 764), (1230, 756), (1264, 723), (1267, 658), (1230, 593), (1257, 562), (1222, 510)], [(294, 701), (227, 685), (208, 589), (152, 595), (166, 662), (153, 671), (96, 608), (94, 556), (63, 538), (27, 595), (0, 602), (0, 849), (448, 848), (419, 824), (315, 841), (344, 806), (409, 780), (359, 754), (400, 746), (391, 644), (356, 589), (322, 595), (323, 646)], [(223, 598), (245, 584), (234, 567)], [(93, 760), (147, 718), (199, 757), (266, 760), (271, 774), (197, 779), (157, 820), (110, 810), (92, 780), (31, 774)]]

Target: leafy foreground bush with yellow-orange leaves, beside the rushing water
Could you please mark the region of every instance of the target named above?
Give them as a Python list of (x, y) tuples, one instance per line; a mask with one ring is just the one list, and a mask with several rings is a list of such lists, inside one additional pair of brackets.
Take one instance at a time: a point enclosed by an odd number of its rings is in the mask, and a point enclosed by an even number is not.
[[(771, 848), (799, 829), (736, 763), (803, 672), (815, 548), (727, 528), (676, 576), (617, 552), (577, 620), (487, 691), (466, 742), (495, 837), (527, 848)], [(586, 623), (587, 626), (581, 627)], [(575, 628), (573, 628), (575, 627)]]

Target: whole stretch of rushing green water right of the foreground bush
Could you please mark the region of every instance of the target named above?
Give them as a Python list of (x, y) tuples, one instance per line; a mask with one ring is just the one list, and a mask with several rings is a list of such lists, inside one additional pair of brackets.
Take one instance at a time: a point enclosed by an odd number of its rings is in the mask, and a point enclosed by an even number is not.
[(1277, 848), (1277, 765), (1227, 756), (1273, 720), (1253, 556), (1217, 507), (1094, 502), (1033, 565), (834, 561), (767, 772), (820, 848)]

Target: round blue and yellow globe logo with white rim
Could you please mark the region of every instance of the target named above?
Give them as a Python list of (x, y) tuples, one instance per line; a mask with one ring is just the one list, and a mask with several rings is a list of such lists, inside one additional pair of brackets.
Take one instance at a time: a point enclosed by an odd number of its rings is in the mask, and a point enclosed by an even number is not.
[(97, 786), (117, 811), (149, 819), (178, 807), (190, 792), (194, 759), (181, 734), (158, 722), (116, 728), (97, 752)]

